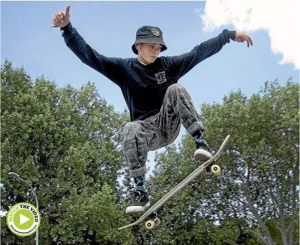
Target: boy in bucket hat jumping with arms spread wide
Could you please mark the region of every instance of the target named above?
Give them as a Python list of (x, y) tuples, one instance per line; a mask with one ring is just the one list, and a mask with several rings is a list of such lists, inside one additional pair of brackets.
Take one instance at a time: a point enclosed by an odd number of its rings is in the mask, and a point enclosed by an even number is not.
[(92, 49), (72, 27), (69, 8), (67, 5), (65, 13), (56, 12), (52, 23), (61, 27), (67, 47), (83, 63), (120, 87), (129, 108), (131, 121), (123, 124), (120, 133), (129, 175), (134, 178), (136, 189), (126, 212), (142, 212), (150, 206), (144, 176), (147, 152), (172, 143), (181, 124), (195, 139), (195, 158), (206, 161), (212, 156), (203, 137), (204, 126), (189, 93), (178, 80), (230, 43), (230, 39), (241, 43), (246, 40), (248, 47), (253, 42), (246, 34), (224, 30), (185, 54), (158, 57), (167, 49), (162, 31), (158, 27), (143, 26), (136, 32), (136, 41), (131, 47), (136, 58), (108, 58)]

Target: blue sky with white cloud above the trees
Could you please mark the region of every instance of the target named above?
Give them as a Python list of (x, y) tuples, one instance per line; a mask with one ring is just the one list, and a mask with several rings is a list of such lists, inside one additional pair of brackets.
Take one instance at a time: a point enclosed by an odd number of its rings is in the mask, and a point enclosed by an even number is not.
[[(79, 89), (95, 82), (100, 96), (116, 110), (127, 108), (119, 87), (83, 64), (65, 45), (60, 30), (50, 28), (55, 12), (64, 12), (69, 4), (72, 25), (89, 45), (109, 57), (136, 57), (131, 45), (142, 25), (162, 30), (168, 49), (160, 56), (183, 54), (224, 29), (250, 35), (252, 47), (231, 40), (178, 81), (198, 112), (202, 103), (222, 102), (231, 91), (241, 89), (250, 97), (266, 80), (285, 84), (292, 76), (299, 83), (299, 3), (240, 2), (1, 1), (1, 64), (8, 59), (14, 67), (23, 66), (32, 80), (45, 75), (60, 87), (71, 84)], [(185, 132), (182, 127), (176, 145)], [(149, 152), (147, 176), (154, 167), (153, 157)]]

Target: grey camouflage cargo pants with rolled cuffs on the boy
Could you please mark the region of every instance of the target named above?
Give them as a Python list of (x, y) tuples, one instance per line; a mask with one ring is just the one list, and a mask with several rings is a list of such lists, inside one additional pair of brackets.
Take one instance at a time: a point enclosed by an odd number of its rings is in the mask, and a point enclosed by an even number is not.
[(181, 124), (190, 135), (196, 130), (204, 130), (191, 96), (180, 84), (169, 86), (157, 115), (123, 124), (120, 130), (122, 150), (131, 178), (146, 173), (148, 151), (172, 143), (178, 137)]

